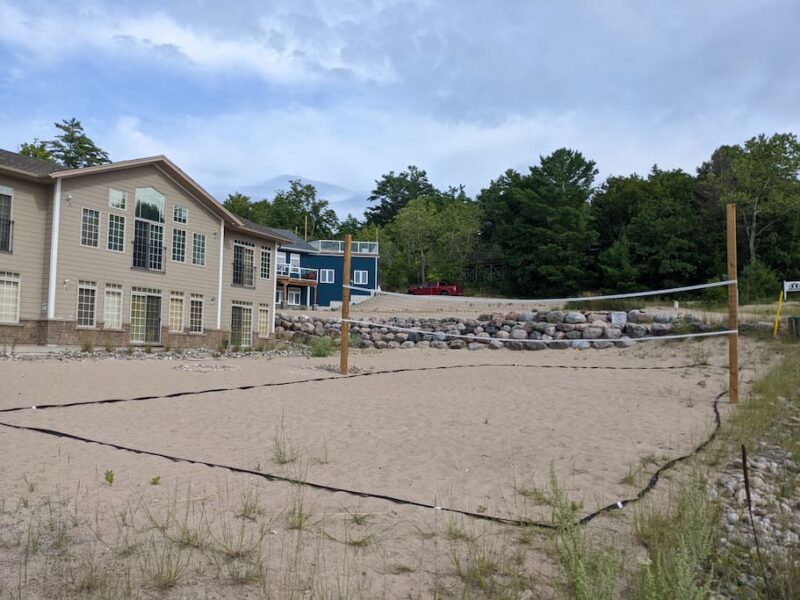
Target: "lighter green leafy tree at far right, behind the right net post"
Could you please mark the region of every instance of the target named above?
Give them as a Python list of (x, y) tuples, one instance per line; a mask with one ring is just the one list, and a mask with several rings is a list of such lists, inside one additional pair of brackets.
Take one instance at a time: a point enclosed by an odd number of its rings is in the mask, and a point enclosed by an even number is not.
[(707, 197), (736, 203), (750, 263), (759, 259), (764, 236), (800, 210), (798, 173), (800, 142), (792, 133), (760, 134), (741, 146), (721, 146), (698, 169)]

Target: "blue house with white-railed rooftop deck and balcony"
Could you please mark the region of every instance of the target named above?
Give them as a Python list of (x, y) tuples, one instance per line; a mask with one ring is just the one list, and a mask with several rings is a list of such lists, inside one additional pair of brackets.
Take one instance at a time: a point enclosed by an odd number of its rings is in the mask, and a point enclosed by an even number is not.
[[(278, 248), (275, 257), (277, 285), (275, 302), (286, 307), (320, 306), (337, 308), (342, 302), (344, 242), (306, 242), (288, 229), (272, 229), (292, 240)], [(374, 290), (378, 287), (378, 242), (353, 242), (350, 285)], [(351, 300), (366, 297), (368, 291), (351, 290)]]

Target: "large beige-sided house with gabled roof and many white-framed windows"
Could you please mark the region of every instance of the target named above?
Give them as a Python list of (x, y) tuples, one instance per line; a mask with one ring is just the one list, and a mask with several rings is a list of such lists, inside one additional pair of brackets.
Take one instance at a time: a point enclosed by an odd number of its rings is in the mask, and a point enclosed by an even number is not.
[(286, 241), (163, 156), (64, 170), (0, 150), (0, 344), (255, 346)]

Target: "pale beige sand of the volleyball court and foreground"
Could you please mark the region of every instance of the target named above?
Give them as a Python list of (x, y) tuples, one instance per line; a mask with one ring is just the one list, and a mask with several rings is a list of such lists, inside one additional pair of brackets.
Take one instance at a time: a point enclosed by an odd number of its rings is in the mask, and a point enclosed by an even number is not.
[[(752, 367), (744, 373), (748, 380), (766, 355), (745, 341), (743, 356)], [(546, 520), (549, 509), (520, 492), (546, 486), (552, 469), (583, 514), (635, 495), (626, 476), (643, 477), (708, 436), (712, 403), (727, 380), (724, 340), (582, 352), (361, 351), (351, 361), (360, 376), (347, 378), (336, 374), (337, 363), (337, 357), (0, 362), (0, 410), (288, 383), (31, 408), (0, 413), (0, 421), (368, 494)], [(397, 369), (405, 371), (388, 372)], [(723, 416), (728, 410), (723, 403)], [(296, 460), (278, 464), (276, 443)], [(429, 597), (434, 588), (456, 593), (463, 578), (448, 547), (469, 544), (453, 535), (456, 525), (487, 536), (491, 527), (487, 539), (505, 540), (495, 547), (501, 553), (515, 535), (513, 528), (441, 511), (37, 432), (0, 427), (0, 451), (0, 548), (10, 548), (0, 558), (0, 597), (20, 587), (25, 532), (43, 522), (42, 507), (53, 498), (74, 515), (67, 527), (74, 555), (91, 552), (98, 560), (113, 555), (126, 527), (162, 543), (154, 521), (167, 523), (162, 531), (177, 531), (175, 515), (191, 507), (192, 526), (207, 521), (215, 533), (187, 559), (192, 567), (173, 592), (181, 597), (308, 597), (343, 588), (346, 596), (365, 597)], [(151, 485), (154, 477), (159, 485)], [(248, 497), (259, 507), (252, 521), (236, 517)], [(292, 509), (300, 502), (309, 516), (297, 531)], [(120, 526), (125, 511), (133, 525)], [(354, 514), (368, 516), (361, 522)], [(248, 535), (258, 538), (264, 576), (231, 588), (235, 578), (221, 566), (228, 563), (214, 556), (226, 524), (245, 521)], [(43, 548), (46, 557), (52, 548)], [(542, 560), (535, 549), (525, 559)], [(132, 589), (150, 593), (144, 562), (129, 565), (128, 579)], [(47, 596), (48, 585), (61, 581), (48, 584), (40, 563), (47, 561), (32, 561), (31, 580), (22, 586), (31, 597)]]

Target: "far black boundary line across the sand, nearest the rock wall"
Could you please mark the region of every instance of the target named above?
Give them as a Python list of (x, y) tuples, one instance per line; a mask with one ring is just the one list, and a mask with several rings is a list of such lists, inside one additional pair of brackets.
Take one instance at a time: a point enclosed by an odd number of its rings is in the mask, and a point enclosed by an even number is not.
[(383, 371), (365, 371), (363, 373), (351, 373), (345, 376), (329, 376), (329, 377), (310, 377), (307, 379), (298, 379), (295, 381), (276, 381), (270, 383), (257, 383), (253, 385), (239, 385), (229, 388), (208, 388), (204, 390), (173, 392), (171, 394), (162, 394), (160, 396), (134, 396), (133, 398), (105, 398), (102, 400), (80, 400), (77, 402), (65, 402), (62, 404), (35, 404), (32, 406), (15, 406), (12, 408), (0, 409), (2, 413), (20, 412), (24, 410), (45, 410), (48, 408), (69, 408), (74, 406), (92, 406), (96, 404), (117, 404), (120, 402), (142, 402), (145, 400), (163, 400), (167, 398), (180, 398), (182, 396), (200, 396), (203, 394), (216, 394), (219, 392), (234, 392), (244, 391), (269, 387), (281, 387), (286, 385), (298, 385), (301, 383), (314, 383), (317, 381), (329, 381), (331, 379), (353, 379), (356, 377), (369, 377), (372, 375), (386, 375), (391, 373), (409, 373), (417, 371), (438, 371), (444, 369), (467, 369), (467, 368), (482, 368), (482, 367), (523, 367), (534, 369), (581, 369), (581, 370), (618, 370), (618, 371), (663, 371), (668, 369), (691, 369), (698, 366), (713, 366), (713, 365), (655, 365), (644, 367), (610, 367), (601, 365), (520, 365), (517, 363), (480, 363), (474, 365), (440, 365), (435, 367), (409, 367), (404, 369), (387, 369)]

